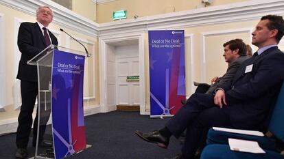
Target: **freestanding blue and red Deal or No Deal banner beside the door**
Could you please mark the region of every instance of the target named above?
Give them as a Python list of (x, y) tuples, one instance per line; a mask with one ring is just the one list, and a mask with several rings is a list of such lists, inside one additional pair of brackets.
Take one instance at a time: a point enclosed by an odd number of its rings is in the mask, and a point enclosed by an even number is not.
[(185, 33), (149, 31), (151, 117), (172, 116), (185, 100)]

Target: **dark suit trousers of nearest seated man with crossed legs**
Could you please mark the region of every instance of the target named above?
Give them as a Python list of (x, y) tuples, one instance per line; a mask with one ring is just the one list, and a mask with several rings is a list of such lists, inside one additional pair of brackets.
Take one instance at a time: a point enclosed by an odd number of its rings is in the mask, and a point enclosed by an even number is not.
[(220, 109), (216, 106), (212, 95), (194, 93), (187, 104), (182, 106), (178, 113), (167, 122), (166, 127), (176, 138), (187, 129), (185, 143), (182, 146), (182, 155), (185, 158), (194, 158), (205, 128), (233, 127), (230, 124), (229, 108), (230, 106), (224, 106)]

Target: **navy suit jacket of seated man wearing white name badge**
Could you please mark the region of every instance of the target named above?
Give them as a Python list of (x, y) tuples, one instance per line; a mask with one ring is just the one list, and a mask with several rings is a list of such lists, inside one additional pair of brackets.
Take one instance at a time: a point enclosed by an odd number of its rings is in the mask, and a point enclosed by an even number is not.
[(235, 78), (220, 85), (232, 107), (231, 123), (238, 128), (257, 128), (263, 124), (283, 79), (284, 54), (276, 46), (244, 61)]

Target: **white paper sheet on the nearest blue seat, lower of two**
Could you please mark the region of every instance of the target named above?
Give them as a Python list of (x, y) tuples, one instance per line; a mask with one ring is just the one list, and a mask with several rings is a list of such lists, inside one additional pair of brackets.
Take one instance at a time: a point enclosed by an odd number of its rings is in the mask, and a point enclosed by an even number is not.
[(246, 141), (239, 139), (228, 139), (230, 145), (230, 150), (232, 151), (243, 151), (250, 152), (254, 154), (265, 154), (265, 151), (259, 147), (257, 141)]

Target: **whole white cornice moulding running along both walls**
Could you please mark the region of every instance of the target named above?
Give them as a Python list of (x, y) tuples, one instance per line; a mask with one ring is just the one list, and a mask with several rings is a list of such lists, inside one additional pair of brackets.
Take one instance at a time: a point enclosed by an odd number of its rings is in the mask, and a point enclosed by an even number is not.
[[(96, 0), (97, 3), (102, 1)], [(284, 14), (283, 0), (251, 0), (98, 24), (51, 0), (0, 0), (0, 3), (33, 16), (35, 16), (36, 8), (39, 5), (49, 5), (54, 11), (55, 24), (95, 37), (147, 32), (151, 29), (183, 29), (200, 25), (259, 19), (265, 14)]]

